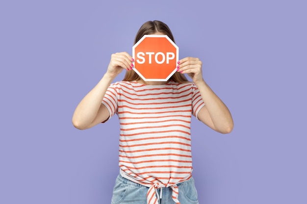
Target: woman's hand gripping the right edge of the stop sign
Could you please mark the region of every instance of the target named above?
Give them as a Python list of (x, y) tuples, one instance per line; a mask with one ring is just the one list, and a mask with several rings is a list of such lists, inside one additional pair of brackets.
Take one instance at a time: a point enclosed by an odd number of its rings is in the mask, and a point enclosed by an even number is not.
[(204, 81), (202, 61), (195, 57), (185, 57), (178, 62), (177, 71), (188, 74), (195, 84)]

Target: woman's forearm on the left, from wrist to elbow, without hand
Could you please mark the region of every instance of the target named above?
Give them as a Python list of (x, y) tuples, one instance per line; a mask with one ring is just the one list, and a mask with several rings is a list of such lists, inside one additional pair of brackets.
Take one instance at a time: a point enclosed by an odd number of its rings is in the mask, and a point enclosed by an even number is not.
[(90, 126), (97, 116), (104, 94), (112, 81), (112, 77), (104, 74), (98, 84), (84, 96), (73, 115), (72, 121), (75, 127), (82, 129)]

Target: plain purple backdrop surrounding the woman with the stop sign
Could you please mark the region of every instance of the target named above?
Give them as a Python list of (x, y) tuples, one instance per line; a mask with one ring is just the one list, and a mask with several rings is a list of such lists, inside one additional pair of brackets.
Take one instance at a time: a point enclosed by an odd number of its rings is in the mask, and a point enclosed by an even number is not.
[[(167, 23), (199, 57), (235, 127), (192, 120), (201, 204), (306, 204), (305, 0), (0, 2), (0, 203), (109, 204), (119, 123), (73, 112), (142, 23)], [(121, 80), (122, 73), (116, 78)]]

